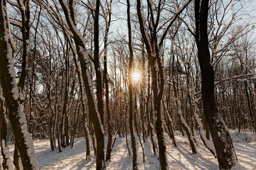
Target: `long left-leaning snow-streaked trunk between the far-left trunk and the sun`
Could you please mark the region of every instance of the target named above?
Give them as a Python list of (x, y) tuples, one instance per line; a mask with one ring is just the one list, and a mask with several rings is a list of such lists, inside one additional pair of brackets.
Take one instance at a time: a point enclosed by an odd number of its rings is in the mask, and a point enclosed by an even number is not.
[(106, 169), (104, 154), (104, 129), (98, 110), (99, 107), (97, 106), (97, 101), (95, 99), (94, 91), (92, 89), (92, 79), (90, 77), (88, 68), (89, 54), (85, 46), (85, 40), (79, 29), (77, 29), (76, 27), (74, 1), (70, 0), (69, 6), (67, 6), (66, 1), (64, 0), (59, 0), (59, 2), (64, 11), (69, 29), (73, 34), (74, 42), (76, 44), (76, 52), (78, 53), (78, 57), (80, 60), (82, 79), (85, 86), (88, 106), (90, 110), (89, 112), (91, 113), (90, 116), (94, 127), (95, 137), (97, 139), (96, 168), (97, 170), (103, 170)]

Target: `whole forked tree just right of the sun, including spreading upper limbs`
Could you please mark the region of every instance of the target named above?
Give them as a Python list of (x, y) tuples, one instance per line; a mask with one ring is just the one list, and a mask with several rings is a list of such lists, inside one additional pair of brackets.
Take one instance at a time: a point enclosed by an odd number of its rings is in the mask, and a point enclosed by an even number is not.
[[(165, 22), (162, 26), (159, 26), (159, 23), (161, 23), (159, 19), (162, 11), (162, 1), (160, 0), (157, 3), (147, 1), (148, 20), (146, 20), (144, 14), (141, 12), (141, 0), (137, 0), (137, 15), (139, 18), (140, 32), (146, 46), (148, 63), (150, 64), (152, 74), (152, 90), (156, 117), (157, 141), (159, 147), (159, 161), (162, 170), (168, 169), (168, 164), (166, 158), (166, 146), (164, 144), (164, 124), (162, 122), (161, 113), (161, 102), (164, 93), (164, 62), (162, 60), (161, 46), (164, 42), (168, 29), (172, 26), (173, 22), (186, 8), (189, 2), (191, 2), (191, 0), (186, 0), (182, 4), (182, 7), (175, 11), (175, 14), (169, 20), (169, 22)], [(145, 22), (148, 22), (148, 28), (146, 27)], [(165, 26), (165, 24), (167, 26)], [(164, 26), (165, 29), (163, 33), (158, 35), (158, 28), (162, 28)]]

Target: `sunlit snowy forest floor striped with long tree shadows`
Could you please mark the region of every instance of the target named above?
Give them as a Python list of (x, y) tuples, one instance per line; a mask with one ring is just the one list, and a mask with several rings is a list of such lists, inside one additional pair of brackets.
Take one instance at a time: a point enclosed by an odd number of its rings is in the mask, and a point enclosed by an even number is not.
[[(236, 154), (243, 165), (248, 170), (256, 170), (256, 142), (254, 137), (247, 133), (238, 133), (231, 131)], [(182, 137), (180, 132), (175, 132), (177, 148), (174, 148), (171, 139), (166, 136), (168, 164), (171, 170), (217, 170), (218, 161), (204, 147), (199, 135), (196, 133), (199, 153), (191, 154), (191, 148), (187, 137)], [(145, 163), (143, 163), (142, 149), (137, 141), (138, 151), (138, 168), (139, 170), (159, 170), (159, 161), (153, 156), (150, 139), (144, 144), (146, 153)], [(249, 142), (249, 143), (245, 143)], [(130, 139), (128, 136), (128, 143)], [(94, 170), (96, 168), (95, 157), (92, 161), (85, 161), (85, 139), (76, 139), (74, 147), (67, 147), (62, 152), (58, 153), (58, 149), (50, 149), (49, 141), (34, 141), (36, 157), (39, 162), (39, 169), (42, 170)], [(10, 146), (10, 151), (13, 152), (13, 146)], [(93, 151), (91, 152), (93, 154)], [(126, 146), (126, 138), (119, 137), (115, 142), (112, 150), (111, 161), (106, 163), (108, 170), (131, 170), (132, 157), (129, 157)]]

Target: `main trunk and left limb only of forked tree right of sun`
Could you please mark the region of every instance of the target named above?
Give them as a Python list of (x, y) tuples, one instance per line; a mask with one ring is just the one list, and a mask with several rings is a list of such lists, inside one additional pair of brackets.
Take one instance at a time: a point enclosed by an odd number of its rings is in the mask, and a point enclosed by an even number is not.
[[(155, 117), (156, 117), (157, 141), (158, 141), (158, 147), (159, 147), (159, 161), (160, 161), (161, 169), (166, 170), (168, 169), (168, 164), (167, 164), (167, 158), (165, 155), (166, 146), (164, 144), (164, 128), (163, 128), (164, 125), (163, 125), (162, 116), (161, 116), (162, 115), (161, 102), (162, 102), (162, 95), (164, 92), (164, 72), (163, 72), (164, 64), (162, 63), (159, 44), (157, 44), (156, 30), (154, 29), (152, 33), (153, 37), (150, 37), (150, 38), (148, 33), (145, 32), (145, 25), (143, 20), (144, 15), (141, 13), (140, 0), (137, 0), (137, 14), (139, 17), (140, 30), (141, 30), (142, 38), (146, 45), (146, 50), (148, 53), (148, 62), (150, 64), (150, 70), (152, 73), (152, 90), (153, 90), (153, 102), (154, 102), (154, 110), (155, 110)], [(151, 44), (151, 41), (154, 42), (155, 51), (153, 51), (153, 46)], [(155, 64), (155, 62), (157, 62), (157, 65)], [(160, 75), (159, 78), (157, 78), (158, 73)], [(158, 84), (158, 81), (160, 82), (159, 84)]]

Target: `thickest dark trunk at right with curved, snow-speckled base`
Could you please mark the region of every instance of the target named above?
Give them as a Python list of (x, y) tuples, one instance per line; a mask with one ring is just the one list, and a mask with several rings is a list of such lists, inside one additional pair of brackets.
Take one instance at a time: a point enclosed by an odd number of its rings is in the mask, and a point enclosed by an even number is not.
[(209, 0), (195, 0), (195, 41), (202, 76), (202, 102), (220, 170), (240, 166), (227, 126), (218, 113), (214, 96), (214, 70), (208, 42)]

